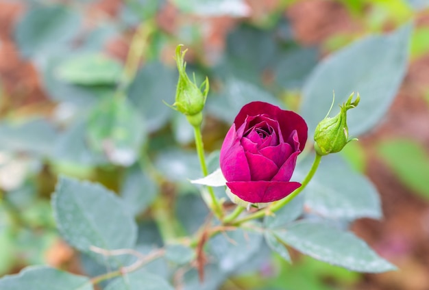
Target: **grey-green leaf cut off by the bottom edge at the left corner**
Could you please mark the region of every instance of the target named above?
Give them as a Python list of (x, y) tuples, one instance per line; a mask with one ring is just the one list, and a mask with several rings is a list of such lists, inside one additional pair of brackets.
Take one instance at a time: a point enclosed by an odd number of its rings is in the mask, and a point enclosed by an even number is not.
[(1, 290), (93, 290), (89, 278), (45, 266), (26, 267), (0, 279)]

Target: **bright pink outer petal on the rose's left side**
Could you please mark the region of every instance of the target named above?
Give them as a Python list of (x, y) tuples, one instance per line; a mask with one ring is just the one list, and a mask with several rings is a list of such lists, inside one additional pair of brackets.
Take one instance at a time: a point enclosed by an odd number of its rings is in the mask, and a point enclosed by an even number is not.
[(250, 181), (249, 164), (234, 124), (223, 140), (219, 161), (227, 181)]

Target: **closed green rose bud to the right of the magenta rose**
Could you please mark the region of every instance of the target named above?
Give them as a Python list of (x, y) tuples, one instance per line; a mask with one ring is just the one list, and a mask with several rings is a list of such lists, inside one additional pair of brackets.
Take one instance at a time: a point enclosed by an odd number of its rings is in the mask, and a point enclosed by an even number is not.
[[(354, 92), (349, 96), (347, 102), (340, 105), (341, 111), (334, 118), (326, 117), (319, 122), (315, 130), (315, 150), (319, 155), (328, 155), (341, 151), (349, 140), (349, 129), (347, 128), (347, 110), (356, 107), (360, 96), (352, 102)], [(333, 104), (333, 102), (332, 102)], [(331, 107), (332, 109), (332, 107)], [(330, 111), (330, 110), (329, 110)]]

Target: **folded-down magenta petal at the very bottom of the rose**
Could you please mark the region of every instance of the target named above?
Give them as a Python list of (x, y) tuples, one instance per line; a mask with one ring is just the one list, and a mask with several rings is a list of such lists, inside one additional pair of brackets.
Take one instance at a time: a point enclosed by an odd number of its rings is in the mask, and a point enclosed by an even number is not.
[(231, 192), (247, 202), (273, 202), (281, 200), (301, 186), (297, 182), (235, 181), (226, 185)]

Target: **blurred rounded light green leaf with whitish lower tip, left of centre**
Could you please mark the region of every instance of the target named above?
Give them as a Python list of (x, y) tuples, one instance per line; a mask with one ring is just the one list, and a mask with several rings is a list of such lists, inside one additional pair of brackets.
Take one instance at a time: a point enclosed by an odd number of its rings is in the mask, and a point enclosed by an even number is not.
[(112, 163), (130, 166), (145, 142), (143, 120), (126, 98), (110, 98), (88, 118), (88, 141)]

